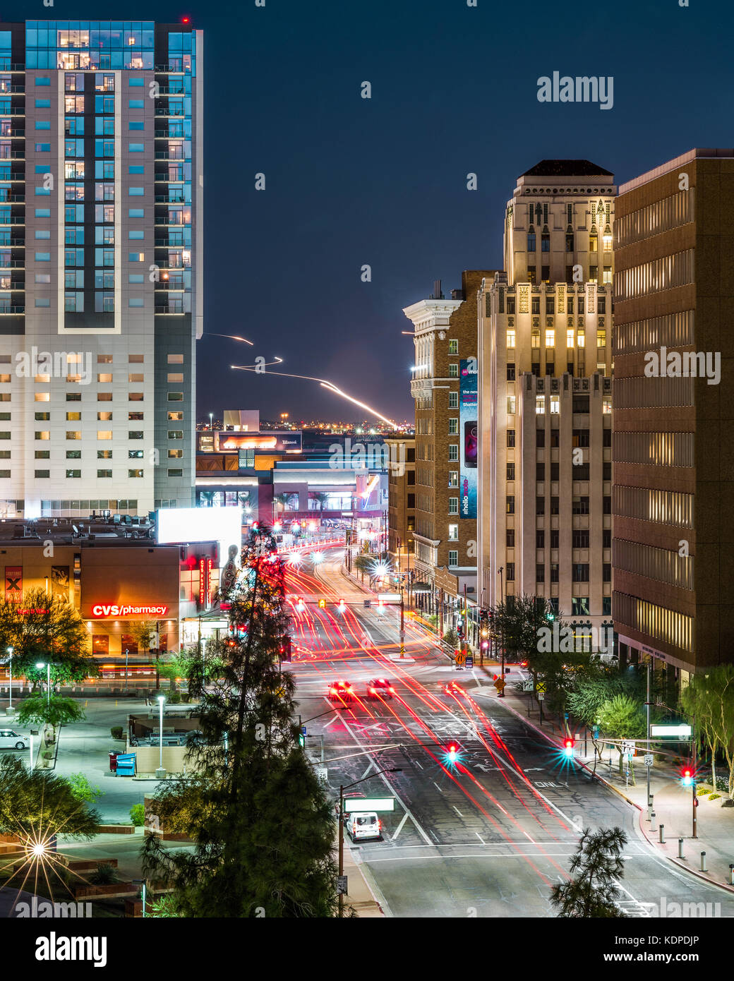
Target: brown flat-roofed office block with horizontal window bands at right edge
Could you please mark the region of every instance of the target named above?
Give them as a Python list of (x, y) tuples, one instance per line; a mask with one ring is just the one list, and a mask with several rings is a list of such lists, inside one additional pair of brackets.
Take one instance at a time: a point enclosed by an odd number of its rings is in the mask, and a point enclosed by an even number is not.
[(616, 207), (614, 626), (673, 675), (732, 660), (734, 151), (691, 150)]

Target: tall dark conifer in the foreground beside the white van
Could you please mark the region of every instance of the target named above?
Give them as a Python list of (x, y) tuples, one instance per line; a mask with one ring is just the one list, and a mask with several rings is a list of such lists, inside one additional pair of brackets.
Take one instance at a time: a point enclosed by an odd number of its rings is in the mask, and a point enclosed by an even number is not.
[(162, 830), (195, 846), (169, 852), (150, 835), (143, 868), (173, 885), (176, 914), (332, 915), (335, 817), (292, 721), (294, 681), (279, 658), (288, 637), (283, 562), (268, 529), (250, 530), (242, 569), (230, 636), (191, 668), (189, 691), (204, 697), (190, 750), (196, 776), (161, 786), (151, 806)]

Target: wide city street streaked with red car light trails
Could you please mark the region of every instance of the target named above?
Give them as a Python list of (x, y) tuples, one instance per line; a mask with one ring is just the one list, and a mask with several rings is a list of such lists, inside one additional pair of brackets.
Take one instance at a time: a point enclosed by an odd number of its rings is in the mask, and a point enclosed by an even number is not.
[[(307, 747), (323, 758), (335, 800), (347, 785), (387, 768), (345, 796), (393, 795), (380, 815), (384, 841), (352, 845), (375, 897), (393, 916), (549, 916), (550, 886), (567, 877), (582, 828), (621, 827), (628, 836), (620, 906), (656, 915), (663, 902), (721, 904), (734, 897), (671, 868), (644, 840), (637, 812), (569, 762), (498, 699), (480, 672), (455, 672), (435, 642), (407, 623), (397, 655), (399, 610), (365, 609), (368, 595), (340, 572), (332, 549), (314, 566), (288, 568), (293, 598), (291, 668)], [(318, 605), (326, 597), (325, 608)], [(337, 604), (343, 598), (344, 612)], [(385, 677), (392, 699), (367, 700), (366, 682)], [(511, 677), (511, 676), (510, 676)], [(335, 681), (356, 699), (338, 711)], [(455, 762), (448, 746), (458, 748)]]

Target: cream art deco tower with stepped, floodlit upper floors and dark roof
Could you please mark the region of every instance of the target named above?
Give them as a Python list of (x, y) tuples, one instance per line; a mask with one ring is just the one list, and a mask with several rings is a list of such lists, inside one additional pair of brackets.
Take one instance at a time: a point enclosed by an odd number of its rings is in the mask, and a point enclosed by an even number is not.
[(479, 601), (548, 599), (611, 626), (614, 178), (544, 160), (504, 216), (479, 290)]

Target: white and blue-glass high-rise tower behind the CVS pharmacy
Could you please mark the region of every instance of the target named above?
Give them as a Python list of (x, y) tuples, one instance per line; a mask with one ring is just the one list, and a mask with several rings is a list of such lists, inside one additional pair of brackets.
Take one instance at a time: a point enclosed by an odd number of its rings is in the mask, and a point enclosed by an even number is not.
[(193, 503), (202, 41), (0, 24), (0, 510)]

